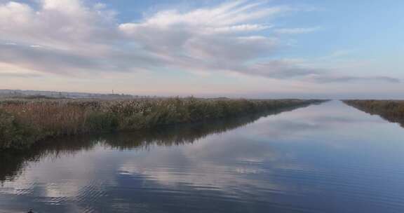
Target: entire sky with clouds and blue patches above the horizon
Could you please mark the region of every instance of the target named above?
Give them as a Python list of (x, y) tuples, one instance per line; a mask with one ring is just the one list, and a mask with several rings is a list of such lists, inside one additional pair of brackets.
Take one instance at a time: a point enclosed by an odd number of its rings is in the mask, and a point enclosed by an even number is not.
[(0, 89), (404, 98), (404, 1), (0, 0)]

